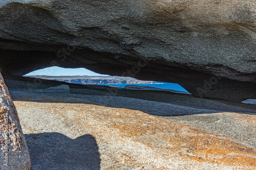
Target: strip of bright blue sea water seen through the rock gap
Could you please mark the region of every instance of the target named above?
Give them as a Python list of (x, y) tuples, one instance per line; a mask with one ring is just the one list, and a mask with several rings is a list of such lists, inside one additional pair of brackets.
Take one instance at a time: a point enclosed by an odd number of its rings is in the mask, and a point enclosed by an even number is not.
[(183, 87), (181, 87), (179, 84), (176, 84), (176, 83), (157, 82), (157, 84), (100, 84), (100, 85), (115, 86), (120, 88), (123, 88), (124, 86), (127, 86), (127, 85), (150, 86), (150, 87), (156, 87), (161, 89), (170, 89), (170, 90), (187, 92), (187, 90), (185, 90)]

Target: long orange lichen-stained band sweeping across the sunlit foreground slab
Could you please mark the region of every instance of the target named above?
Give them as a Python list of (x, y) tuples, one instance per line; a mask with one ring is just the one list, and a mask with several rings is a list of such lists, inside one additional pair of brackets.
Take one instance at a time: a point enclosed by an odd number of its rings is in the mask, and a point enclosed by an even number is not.
[[(126, 141), (130, 140), (140, 143), (148, 151), (157, 153), (158, 158), (165, 159), (166, 162), (175, 157), (197, 163), (209, 162), (239, 166), (243, 169), (256, 168), (256, 153), (251, 148), (223, 139), (224, 136), (172, 123), (141, 111), (91, 104), (34, 102), (15, 104), (48, 108), (52, 114), (63, 117), (64, 124), (72, 126), (75, 131), (93, 135), (97, 142), (125, 145)], [(62, 109), (63, 107), (65, 109)], [(122, 154), (120, 159), (133, 162), (136, 161), (136, 155)]]

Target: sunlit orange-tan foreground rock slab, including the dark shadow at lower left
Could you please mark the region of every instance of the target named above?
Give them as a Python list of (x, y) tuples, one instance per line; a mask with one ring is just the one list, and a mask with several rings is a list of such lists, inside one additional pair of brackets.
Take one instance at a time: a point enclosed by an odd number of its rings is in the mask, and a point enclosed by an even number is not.
[(141, 111), (47, 96), (15, 105), (33, 169), (256, 168), (255, 150), (232, 137)]

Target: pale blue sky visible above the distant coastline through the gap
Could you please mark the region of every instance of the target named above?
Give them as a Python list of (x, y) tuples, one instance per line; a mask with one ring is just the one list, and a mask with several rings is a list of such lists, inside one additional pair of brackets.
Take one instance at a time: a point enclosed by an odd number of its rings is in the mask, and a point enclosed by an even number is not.
[(96, 72), (90, 71), (85, 68), (61, 68), (61, 67), (48, 67), (44, 69), (39, 69), (25, 76), (35, 76), (35, 75), (46, 75), (46, 76), (108, 76), (100, 75)]

